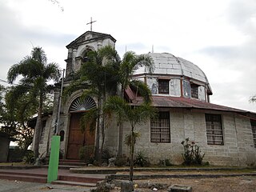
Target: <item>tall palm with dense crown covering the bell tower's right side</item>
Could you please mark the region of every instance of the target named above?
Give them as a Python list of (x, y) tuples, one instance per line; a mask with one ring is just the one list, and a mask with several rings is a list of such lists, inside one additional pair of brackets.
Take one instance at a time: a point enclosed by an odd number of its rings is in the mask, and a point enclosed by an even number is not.
[[(118, 82), (118, 63), (120, 58), (116, 50), (111, 46), (103, 46), (96, 51), (89, 51), (86, 62), (82, 63), (78, 73), (74, 77), (71, 86), (64, 90), (64, 95), (71, 94), (75, 90), (83, 90), (82, 97), (87, 95), (97, 98), (98, 109), (83, 115), (83, 121), (93, 124), (92, 118), (98, 121), (96, 126), (95, 158), (101, 160), (103, 144), (106, 133), (106, 118), (103, 113), (103, 103), (106, 94), (115, 94)], [(93, 114), (94, 113), (94, 114)], [(82, 128), (86, 127), (82, 125)]]

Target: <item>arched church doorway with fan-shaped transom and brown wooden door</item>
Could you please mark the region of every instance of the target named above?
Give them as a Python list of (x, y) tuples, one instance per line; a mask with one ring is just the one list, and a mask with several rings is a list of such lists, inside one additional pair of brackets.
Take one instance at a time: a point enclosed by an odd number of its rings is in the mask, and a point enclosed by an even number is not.
[(94, 109), (96, 103), (93, 98), (76, 98), (70, 105), (70, 132), (66, 158), (79, 159), (79, 150), (82, 146), (94, 146), (95, 133), (88, 128), (83, 132), (80, 126), (80, 118), (88, 110)]

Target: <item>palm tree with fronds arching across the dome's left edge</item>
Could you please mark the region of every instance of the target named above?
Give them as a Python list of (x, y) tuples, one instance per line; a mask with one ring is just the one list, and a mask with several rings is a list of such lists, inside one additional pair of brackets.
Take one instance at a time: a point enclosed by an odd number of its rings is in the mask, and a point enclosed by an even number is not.
[[(136, 55), (134, 51), (128, 51), (123, 55), (122, 61), (120, 62), (119, 67), (119, 83), (121, 84), (121, 97), (124, 98), (125, 90), (128, 86), (130, 86), (131, 76), (134, 74), (134, 71), (138, 69), (138, 67), (146, 67), (148, 73), (152, 73), (154, 71), (154, 61), (153, 59), (146, 54)], [(119, 142), (118, 142), (118, 156), (122, 156), (122, 142), (123, 142), (123, 123), (120, 121), (119, 123)]]

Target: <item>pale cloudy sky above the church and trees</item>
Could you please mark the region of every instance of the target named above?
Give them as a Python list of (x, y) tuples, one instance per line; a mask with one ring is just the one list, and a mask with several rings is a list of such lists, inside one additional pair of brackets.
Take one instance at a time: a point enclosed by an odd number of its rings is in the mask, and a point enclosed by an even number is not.
[(66, 45), (90, 30), (91, 17), (120, 56), (154, 46), (184, 58), (206, 74), (212, 103), (256, 112), (255, 0), (0, 0), (0, 79), (34, 46), (66, 68)]

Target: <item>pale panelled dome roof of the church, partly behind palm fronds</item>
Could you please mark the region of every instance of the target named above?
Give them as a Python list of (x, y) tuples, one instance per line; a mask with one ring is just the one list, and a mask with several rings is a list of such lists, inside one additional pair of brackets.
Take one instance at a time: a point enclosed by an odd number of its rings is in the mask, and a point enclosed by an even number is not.
[[(209, 84), (206, 74), (194, 63), (186, 61), (183, 58), (175, 57), (173, 54), (157, 54), (149, 53), (154, 60), (154, 74), (169, 74), (185, 76), (200, 82), (205, 82)], [(135, 71), (134, 74), (145, 74), (147, 73), (145, 67), (140, 67)]]

